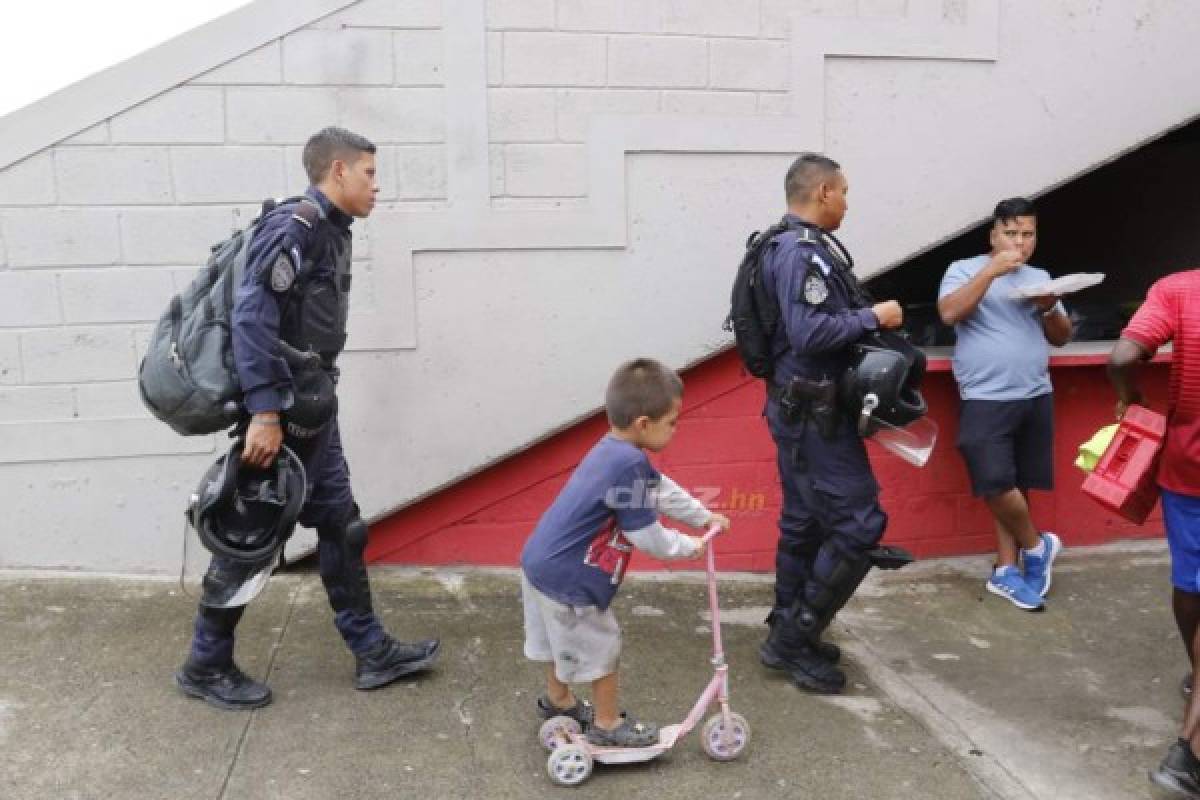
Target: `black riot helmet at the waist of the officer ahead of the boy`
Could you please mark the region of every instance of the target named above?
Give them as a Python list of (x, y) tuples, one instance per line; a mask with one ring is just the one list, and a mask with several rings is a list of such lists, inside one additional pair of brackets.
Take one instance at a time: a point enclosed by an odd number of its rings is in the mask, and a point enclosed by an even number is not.
[(920, 393), (925, 354), (899, 333), (878, 332), (854, 345), (851, 367), (842, 374), (839, 396), (869, 437), (884, 422), (896, 428), (925, 416)]

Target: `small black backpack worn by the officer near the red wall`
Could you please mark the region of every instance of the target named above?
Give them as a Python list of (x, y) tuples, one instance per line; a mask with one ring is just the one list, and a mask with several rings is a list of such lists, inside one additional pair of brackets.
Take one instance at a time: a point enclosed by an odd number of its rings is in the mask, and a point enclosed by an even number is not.
[(774, 290), (763, 279), (762, 254), (772, 239), (792, 227), (784, 219), (746, 239), (745, 254), (730, 293), (730, 315), (724, 325), (726, 331), (733, 332), (746, 372), (768, 381), (775, 372), (772, 342), (779, 329), (780, 311)]

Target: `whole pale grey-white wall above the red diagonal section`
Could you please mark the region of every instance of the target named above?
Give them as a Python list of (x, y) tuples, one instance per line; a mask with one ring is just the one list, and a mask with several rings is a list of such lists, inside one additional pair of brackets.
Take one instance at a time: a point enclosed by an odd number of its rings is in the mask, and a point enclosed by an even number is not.
[(256, 0), (229, 19), (136, 80), (0, 118), (0, 566), (178, 569), (223, 441), (148, 417), (139, 353), (208, 246), (304, 188), (323, 125), (380, 145), (341, 385), (379, 518), (587, 417), (620, 360), (727, 347), (730, 271), (798, 150), (846, 166), (869, 276), (1200, 114), (1200, 17), (1172, 4)]

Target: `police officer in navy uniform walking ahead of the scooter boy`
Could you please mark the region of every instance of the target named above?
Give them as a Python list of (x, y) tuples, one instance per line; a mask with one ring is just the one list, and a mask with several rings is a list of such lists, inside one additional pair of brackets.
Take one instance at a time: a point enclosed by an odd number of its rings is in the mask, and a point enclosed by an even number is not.
[(840, 651), (821, 634), (872, 566), (887, 516), (856, 421), (840, 408), (839, 377), (853, 345), (899, 327), (900, 305), (871, 303), (833, 231), (846, 213), (846, 178), (833, 160), (800, 155), (785, 181), (786, 230), (763, 252), (781, 320), (767, 422), (778, 450), (784, 507), (775, 604), (762, 662), (815, 692), (840, 692)]

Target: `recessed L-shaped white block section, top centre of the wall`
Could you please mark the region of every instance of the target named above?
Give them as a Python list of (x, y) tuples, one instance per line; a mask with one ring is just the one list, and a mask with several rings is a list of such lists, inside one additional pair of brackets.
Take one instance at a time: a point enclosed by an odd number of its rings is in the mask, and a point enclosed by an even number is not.
[(785, 11), (772, 0), (488, 0), (492, 197), (522, 207), (586, 197), (583, 145), (596, 115), (786, 113)]

